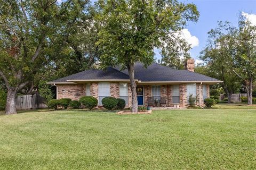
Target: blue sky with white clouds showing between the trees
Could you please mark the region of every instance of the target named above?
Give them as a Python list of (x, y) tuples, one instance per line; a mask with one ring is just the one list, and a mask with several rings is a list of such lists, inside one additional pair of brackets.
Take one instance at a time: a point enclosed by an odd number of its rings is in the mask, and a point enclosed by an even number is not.
[[(58, 0), (61, 2), (63, 0)], [(94, 3), (97, 0), (91, 0)], [(229, 21), (238, 25), (238, 16), (243, 13), (247, 19), (256, 25), (256, 0), (179, 0), (182, 3), (193, 3), (200, 13), (196, 23), (188, 22), (182, 30), (183, 37), (191, 44), (190, 56), (200, 63), (199, 55), (207, 43), (207, 32), (217, 27), (217, 21)], [(155, 57), (161, 58), (159, 50), (155, 49)]]

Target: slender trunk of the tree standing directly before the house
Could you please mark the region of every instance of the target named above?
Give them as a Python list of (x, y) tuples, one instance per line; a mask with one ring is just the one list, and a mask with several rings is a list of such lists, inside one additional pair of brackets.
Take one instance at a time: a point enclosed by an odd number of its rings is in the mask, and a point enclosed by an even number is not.
[(134, 63), (129, 64), (128, 66), (130, 83), (131, 83), (131, 91), (132, 91), (132, 112), (138, 112), (138, 101), (137, 101), (137, 92), (136, 92), (136, 83), (134, 80)]

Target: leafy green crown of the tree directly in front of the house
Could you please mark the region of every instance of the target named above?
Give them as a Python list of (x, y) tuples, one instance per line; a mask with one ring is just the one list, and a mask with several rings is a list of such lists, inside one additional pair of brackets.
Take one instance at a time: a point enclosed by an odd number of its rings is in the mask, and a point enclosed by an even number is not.
[[(104, 49), (100, 60), (104, 66), (118, 64), (123, 69), (129, 63), (151, 64), (154, 47), (161, 48), (166, 57), (179, 58), (180, 48), (187, 52), (188, 44), (172, 35), (187, 21), (197, 21), (199, 15), (194, 4), (176, 0), (114, 0), (111, 3), (100, 0), (97, 6), (100, 10), (96, 19), (102, 24), (97, 44)], [(175, 17), (171, 17), (173, 15)]]

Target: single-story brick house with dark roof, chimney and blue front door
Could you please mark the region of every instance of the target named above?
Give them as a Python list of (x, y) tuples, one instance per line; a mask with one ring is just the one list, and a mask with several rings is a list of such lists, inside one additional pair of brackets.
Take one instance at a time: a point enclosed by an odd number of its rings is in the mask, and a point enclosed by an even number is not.
[[(147, 105), (148, 97), (167, 98), (167, 106), (188, 104), (190, 94), (198, 97), (197, 105), (204, 106), (203, 100), (210, 97), (210, 84), (222, 82), (194, 72), (194, 59), (186, 62), (186, 70), (175, 70), (157, 63), (147, 68), (143, 64), (134, 66), (137, 83), (138, 105)], [(82, 96), (93, 96), (99, 100), (111, 96), (123, 98), (126, 106), (132, 103), (130, 79), (127, 70), (108, 67), (106, 70), (86, 70), (68, 77), (49, 82), (57, 86), (57, 99), (78, 100)]]

